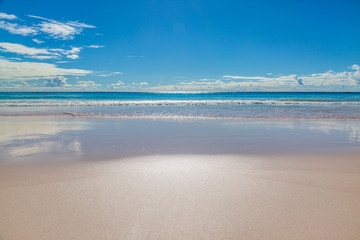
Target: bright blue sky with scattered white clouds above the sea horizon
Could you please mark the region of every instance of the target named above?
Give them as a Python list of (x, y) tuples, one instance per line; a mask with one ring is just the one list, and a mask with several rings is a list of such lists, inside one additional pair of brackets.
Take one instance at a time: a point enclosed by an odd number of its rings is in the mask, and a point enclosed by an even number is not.
[(0, 0), (0, 91), (360, 91), (360, 1)]

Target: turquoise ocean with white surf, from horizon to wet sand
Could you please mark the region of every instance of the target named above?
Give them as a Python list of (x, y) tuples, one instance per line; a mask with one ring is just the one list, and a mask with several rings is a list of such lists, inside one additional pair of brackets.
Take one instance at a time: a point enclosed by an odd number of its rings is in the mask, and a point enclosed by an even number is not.
[(360, 119), (360, 93), (2, 92), (0, 116)]

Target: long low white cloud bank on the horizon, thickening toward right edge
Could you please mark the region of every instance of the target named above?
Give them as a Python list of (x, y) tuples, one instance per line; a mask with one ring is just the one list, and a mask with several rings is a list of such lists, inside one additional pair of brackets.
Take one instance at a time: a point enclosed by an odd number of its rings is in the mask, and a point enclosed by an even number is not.
[(354, 71), (315, 73), (285, 76), (233, 76), (180, 82), (174, 85), (150, 87), (150, 91), (338, 91), (360, 90), (360, 66), (350, 67)]

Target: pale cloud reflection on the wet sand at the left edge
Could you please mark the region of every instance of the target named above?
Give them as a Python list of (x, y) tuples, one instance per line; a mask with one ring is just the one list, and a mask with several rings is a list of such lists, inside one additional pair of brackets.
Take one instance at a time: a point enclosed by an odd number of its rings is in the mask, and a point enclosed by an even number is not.
[(71, 154), (76, 157), (83, 154), (81, 141), (75, 133), (88, 129), (88, 122), (31, 118), (28, 121), (17, 120), (1, 121), (1, 162), (22, 162), (37, 157), (51, 160), (54, 156)]

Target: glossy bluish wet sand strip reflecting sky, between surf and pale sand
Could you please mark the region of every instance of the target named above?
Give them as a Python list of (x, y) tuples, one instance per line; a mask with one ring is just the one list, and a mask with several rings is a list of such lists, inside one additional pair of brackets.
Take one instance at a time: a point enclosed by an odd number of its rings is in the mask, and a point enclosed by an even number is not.
[(356, 151), (359, 121), (0, 118), (1, 163)]

